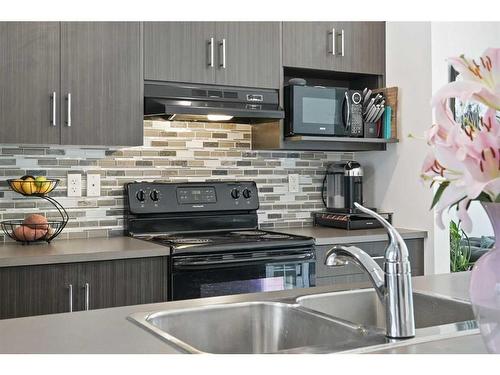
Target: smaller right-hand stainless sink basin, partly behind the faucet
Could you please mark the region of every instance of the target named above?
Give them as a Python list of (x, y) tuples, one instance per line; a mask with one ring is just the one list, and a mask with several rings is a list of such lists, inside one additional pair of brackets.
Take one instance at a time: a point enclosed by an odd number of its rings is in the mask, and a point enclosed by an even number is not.
[[(374, 289), (315, 294), (297, 299), (307, 309), (364, 326), (385, 329), (385, 309)], [(415, 328), (426, 328), (474, 319), (465, 301), (427, 293), (413, 293)]]

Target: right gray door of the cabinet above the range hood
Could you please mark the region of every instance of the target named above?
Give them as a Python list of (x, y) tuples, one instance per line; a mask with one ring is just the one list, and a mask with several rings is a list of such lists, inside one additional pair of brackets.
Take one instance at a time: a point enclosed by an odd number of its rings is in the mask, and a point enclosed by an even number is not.
[(280, 87), (279, 22), (218, 22), (216, 28), (217, 84)]

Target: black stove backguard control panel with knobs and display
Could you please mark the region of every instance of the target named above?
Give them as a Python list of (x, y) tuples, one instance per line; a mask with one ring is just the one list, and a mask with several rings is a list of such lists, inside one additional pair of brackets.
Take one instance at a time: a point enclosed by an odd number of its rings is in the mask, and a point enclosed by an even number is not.
[(162, 183), (133, 182), (126, 186), (133, 214), (254, 211), (259, 208), (253, 181)]

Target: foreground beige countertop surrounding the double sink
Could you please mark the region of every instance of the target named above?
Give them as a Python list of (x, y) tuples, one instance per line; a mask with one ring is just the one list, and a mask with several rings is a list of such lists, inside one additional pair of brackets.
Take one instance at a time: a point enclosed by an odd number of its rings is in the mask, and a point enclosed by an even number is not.
[[(468, 299), (469, 278), (468, 272), (419, 276), (413, 278), (413, 287), (417, 291)], [(127, 320), (127, 317), (135, 312), (296, 298), (353, 287), (330, 285), (0, 320), (0, 353), (177, 353), (173, 347)], [(473, 334), (399, 347), (388, 352), (485, 353), (486, 348), (480, 336)]]

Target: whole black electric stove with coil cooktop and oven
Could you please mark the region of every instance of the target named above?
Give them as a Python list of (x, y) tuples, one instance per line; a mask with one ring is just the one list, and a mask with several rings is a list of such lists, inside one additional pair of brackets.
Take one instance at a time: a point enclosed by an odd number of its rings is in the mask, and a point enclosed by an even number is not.
[(258, 228), (251, 181), (127, 185), (131, 236), (171, 249), (169, 299), (315, 285), (312, 238)]

